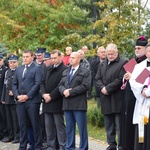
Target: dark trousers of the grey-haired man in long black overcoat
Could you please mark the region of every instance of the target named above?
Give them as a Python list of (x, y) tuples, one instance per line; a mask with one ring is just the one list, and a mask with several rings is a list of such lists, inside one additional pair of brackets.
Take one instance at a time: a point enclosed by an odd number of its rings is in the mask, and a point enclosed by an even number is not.
[(119, 113), (104, 115), (104, 123), (107, 133), (107, 143), (116, 147), (116, 133), (118, 134), (118, 147), (120, 146), (120, 116)]

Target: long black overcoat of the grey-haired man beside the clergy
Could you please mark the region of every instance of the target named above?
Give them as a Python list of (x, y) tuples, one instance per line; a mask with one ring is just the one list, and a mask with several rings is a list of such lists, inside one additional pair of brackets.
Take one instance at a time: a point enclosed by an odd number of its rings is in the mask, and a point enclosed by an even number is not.
[(96, 86), (99, 91), (106, 87), (108, 95), (100, 93), (103, 114), (120, 113), (123, 102), (123, 91), (121, 90), (125, 70), (123, 65), (127, 61), (118, 57), (108, 65), (107, 58), (100, 64), (96, 74)]

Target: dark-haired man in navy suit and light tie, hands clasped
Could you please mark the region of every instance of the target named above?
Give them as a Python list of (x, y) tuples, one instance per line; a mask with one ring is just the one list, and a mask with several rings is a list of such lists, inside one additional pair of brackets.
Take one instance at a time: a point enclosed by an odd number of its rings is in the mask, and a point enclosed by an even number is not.
[(31, 50), (23, 52), (23, 65), (18, 67), (13, 80), (13, 94), (17, 101), (17, 114), (20, 126), (19, 150), (26, 150), (28, 122), (31, 122), (35, 138), (35, 150), (42, 147), (39, 108), (41, 103), (40, 84), (42, 71), (33, 62)]

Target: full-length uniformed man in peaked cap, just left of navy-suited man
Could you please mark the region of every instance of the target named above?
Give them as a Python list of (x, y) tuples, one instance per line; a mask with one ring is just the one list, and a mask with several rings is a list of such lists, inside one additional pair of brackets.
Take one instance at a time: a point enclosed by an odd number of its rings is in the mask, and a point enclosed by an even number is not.
[(12, 82), (16, 68), (18, 67), (18, 56), (11, 55), (8, 58), (9, 69), (5, 73), (2, 103), (5, 105), (6, 118), (9, 135), (2, 142), (19, 143), (19, 124), (16, 112), (16, 102), (12, 93)]

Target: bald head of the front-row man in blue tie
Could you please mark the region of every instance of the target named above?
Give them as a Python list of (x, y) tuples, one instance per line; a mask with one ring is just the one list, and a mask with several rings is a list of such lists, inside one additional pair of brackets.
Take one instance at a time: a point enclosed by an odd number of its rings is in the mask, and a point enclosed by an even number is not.
[(72, 52), (70, 55), (70, 65), (72, 65), (72, 67), (77, 67), (80, 63), (80, 54), (78, 52)]

